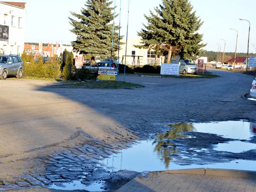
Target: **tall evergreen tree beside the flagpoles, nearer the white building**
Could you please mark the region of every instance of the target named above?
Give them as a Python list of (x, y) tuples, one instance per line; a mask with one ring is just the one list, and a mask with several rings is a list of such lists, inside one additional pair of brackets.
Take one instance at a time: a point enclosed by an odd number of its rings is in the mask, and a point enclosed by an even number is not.
[(81, 9), (81, 14), (72, 12), (78, 18), (70, 19), (74, 27), (71, 31), (76, 34), (76, 41), (72, 42), (73, 50), (80, 54), (91, 54), (97, 58), (110, 58), (113, 37), (113, 53), (118, 50), (118, 26), (114, 27), (112, 36), (114, 13), (110, 0), (87, 0)]

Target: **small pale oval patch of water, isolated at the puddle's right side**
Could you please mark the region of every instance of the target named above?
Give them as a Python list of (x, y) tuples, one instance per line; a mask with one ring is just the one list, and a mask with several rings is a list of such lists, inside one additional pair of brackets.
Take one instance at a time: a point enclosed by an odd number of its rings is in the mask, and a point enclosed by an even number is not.
[(248, 150), (255, 150), (256, 144), (241, 141), (232, 141), (228, 143), (219, 143), (214, 150), (228, 151), (231, 153), (242, 153)]

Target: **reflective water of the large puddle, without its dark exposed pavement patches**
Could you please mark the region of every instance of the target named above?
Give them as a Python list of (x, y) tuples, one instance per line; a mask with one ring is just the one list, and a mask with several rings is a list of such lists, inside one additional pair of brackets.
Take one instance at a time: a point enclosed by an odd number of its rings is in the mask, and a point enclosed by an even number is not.
[[(155, 140), (142, 141), (134, 144), (132, 148), (121, 150), (121, 153), (114, 154), (109, 159), (104, 159), (103, 163), (106, 164), (107, 167), (112, 167), (114, 171), (126, 169), (142, 172), (200, 167), (256, 171), (256, 161), (253, 160), (237, 160), (235, 158), (229, 158), (223, 160), (223, 163), (219, 163), (220, 161), (217, 163), (211, 163), (210, 161), (207, 162), (207, 160), (202, 160), (201, 163), (198, 163), (201, 160), (198, 159), (198, 154), (209, 154), (209, 149), (187, 147), (187, 149), (183, 149), (183, 153), (181, 154), (177, 149), (178, 147), (176, 144), (173, 143), (173, 140), (177, 139), (184, 139), (185, 141), (188, 138), (194, 138), (184, 134), (188, 132), (217, 134), (224, 138), (243, 140), (243, 142), (233, 141), (228, 143), (219, 143), (213, 150), (240, 153), (244, 150), (256, 148), (256, 144), (244, 142), (245, 140), (250, 141), (252, 137), (256, 135), (256, 124), (247, 121), (229, 121), (218, 123), (181, 123), (171, 125), (171, 127), (170, 131), (165, 134), (157, 135)], [(180, 143), (183, 143), (183, 141)], [(241, 148), (238, 148), (238, 146), (241, 146)], [(187, 154), (190, 156), (186, 156)], [(178, 165), (175, 163), (177, 156), (179, 159), (189, 159), (190, 162), (194, 161), (194, 164), (183, 163)]]

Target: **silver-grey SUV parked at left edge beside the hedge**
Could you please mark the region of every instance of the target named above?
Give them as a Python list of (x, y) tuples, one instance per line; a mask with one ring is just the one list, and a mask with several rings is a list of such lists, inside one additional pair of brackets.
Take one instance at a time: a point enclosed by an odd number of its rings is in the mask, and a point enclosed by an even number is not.
[(8, 75), (16, 75), (20, 79), (24, 70), (24, 64), (18, 55), (0, 54), (0, 79), (6, 79)]

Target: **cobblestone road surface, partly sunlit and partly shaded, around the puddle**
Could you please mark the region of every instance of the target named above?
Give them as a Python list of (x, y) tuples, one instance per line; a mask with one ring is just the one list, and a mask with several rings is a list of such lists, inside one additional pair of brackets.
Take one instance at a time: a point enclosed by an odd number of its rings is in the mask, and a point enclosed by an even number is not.
[(112, 173), (101, 160), (163, 133), (169, 123), (256, 122), (256, 102), (241, 97), (254, 77), (214, 73), (220, 77), (126, 76), (126, 81), (145, 88), (118, 90), (0, 81), (0, 190), (61, 187), (80, 180), (85, 185), (102, 181), (108, 184), (102, 190), (115, 191), (138, 173)]

